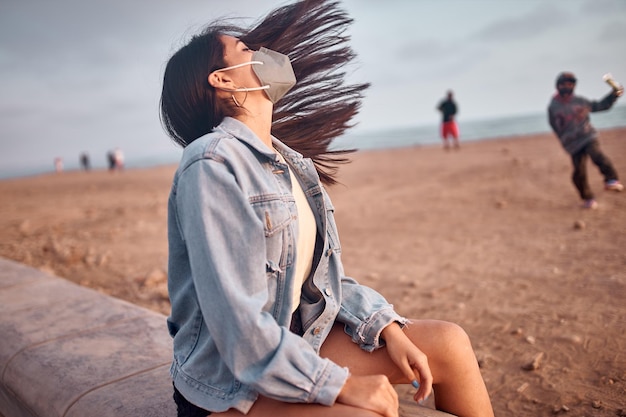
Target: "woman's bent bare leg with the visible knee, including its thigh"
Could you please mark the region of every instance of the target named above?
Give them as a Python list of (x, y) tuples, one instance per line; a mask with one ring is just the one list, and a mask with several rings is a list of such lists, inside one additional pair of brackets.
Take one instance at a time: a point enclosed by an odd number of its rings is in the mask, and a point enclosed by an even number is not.
[[(428, 357), (437, 408), (463, 417), (493, 416), (491, 401), (470, 340), (463, 329), (437, 320), (414, 320), (404, 328), (409, 339)], [(336, 324), (322, 346), (321, 356), (354, 375), (387, 375), (393, 384), (407, 384), (386, 349), (361, 350)]]

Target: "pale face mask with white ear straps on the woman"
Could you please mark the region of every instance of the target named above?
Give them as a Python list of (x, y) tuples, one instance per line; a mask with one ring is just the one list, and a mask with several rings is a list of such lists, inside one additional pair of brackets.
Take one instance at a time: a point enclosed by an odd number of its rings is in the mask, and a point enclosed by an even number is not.
[[(284, 97), (285, 94), (296, 84), (296, 76), (293, 73), (291, 62), (287, 55), (272, 51), (267, 48), (261, 48), (252, 53), (252, 60), (241, 64), (216, 70), (228, 71), (235, 68), (241, 68), (246, 65), (252, 65), (252, 71), (261, 81), (261, 87), (241, 87), (233, 89), (225, 89), (224, 91), (232, 92), (248, 92), (264, 90), (265, 95), (272, 103)], [(235, 101), (237, 103), (237, 101)], [(237, 103), (239, 105), (239, 103)]]

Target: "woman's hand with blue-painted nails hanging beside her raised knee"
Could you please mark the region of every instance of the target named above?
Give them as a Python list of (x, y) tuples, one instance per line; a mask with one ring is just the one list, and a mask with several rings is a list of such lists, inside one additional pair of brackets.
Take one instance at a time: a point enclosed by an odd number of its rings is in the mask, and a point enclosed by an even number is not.
[(397, 323), (391, 323), (381, 332), (389, 357), (410, 381), (419, 382), (419, 389), (413, 396), (417, 402), (424, 401), (432, 393), (433, 376), (428, 366), (428, 358), (411, 342)]

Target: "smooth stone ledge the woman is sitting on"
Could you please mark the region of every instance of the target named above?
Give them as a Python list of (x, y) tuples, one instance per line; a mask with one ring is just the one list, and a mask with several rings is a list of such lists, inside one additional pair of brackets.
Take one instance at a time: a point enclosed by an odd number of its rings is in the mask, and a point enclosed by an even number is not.
[(0, 258), (0, 417), (176, 416), (165, 319)]

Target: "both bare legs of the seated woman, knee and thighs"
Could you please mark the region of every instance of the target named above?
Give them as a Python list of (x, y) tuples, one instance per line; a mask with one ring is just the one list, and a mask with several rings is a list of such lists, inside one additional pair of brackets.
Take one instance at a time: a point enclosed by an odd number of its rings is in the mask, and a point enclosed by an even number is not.
[[(489, 395), (478, 368), (469, 338), (459, 326), (436, 320), (415, 320), (404, 328), (415, 345), (426, 354), (434, 378), (437, 408), (460, 417), (492, 417)], [(322, 346), (321, 356), (353, 375), (386, 375), (393, 384), (410, 383), (391, 361), (386, 350), (365, 352), (354, 344), (336, 324)], [(242, 416), (235, 410), (215, 416)], [(326, 407), (318, 404), (291, 404), (259, 397), (249, 417), (379, 417), (378, 414), (343, 404)]]

